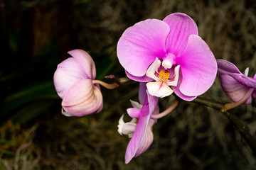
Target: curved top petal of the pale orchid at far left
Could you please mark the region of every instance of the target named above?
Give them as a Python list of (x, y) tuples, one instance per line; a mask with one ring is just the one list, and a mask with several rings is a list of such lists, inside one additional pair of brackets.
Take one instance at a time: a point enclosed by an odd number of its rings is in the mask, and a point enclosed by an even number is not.
[(90, 79), (95, 79), (96, 77), (96, 67), (95, 62), (92, 57), (84, 50), (76, 49), (68, 52), (75, 60), (80, 64), (82, 70)]

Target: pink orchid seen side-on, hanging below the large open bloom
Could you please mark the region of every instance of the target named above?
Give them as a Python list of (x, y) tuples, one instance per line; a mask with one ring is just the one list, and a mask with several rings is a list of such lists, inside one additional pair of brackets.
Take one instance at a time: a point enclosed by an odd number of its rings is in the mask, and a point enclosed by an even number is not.
[(146, 151), (153, 142), (154, 135), (152, 126), (156, 119), (151, 115), (159, 113), (157, 106), (158, 98), (151, 96), (146, 91), (146, 84), (139, 86), (139, 102), (131, 101), (134, 108), (128, 108), (127, 113), (132, 118), (128, 123), (124, 123), (123, 116), (119, 120), (118, 132), (121, 135), (129, 135), (132, 139), (129, 141), (125, 153), (125, 163), (128, 164), (133, 157), (139, 156)]

